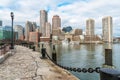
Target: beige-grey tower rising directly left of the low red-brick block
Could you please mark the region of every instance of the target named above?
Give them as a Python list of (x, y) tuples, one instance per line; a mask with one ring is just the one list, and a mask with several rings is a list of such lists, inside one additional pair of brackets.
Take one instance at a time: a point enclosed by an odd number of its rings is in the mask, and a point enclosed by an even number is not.
[(33, 31), (32, 22), (27, 21), (25, 24), (25, 40), (29, 41), (29, 33)]

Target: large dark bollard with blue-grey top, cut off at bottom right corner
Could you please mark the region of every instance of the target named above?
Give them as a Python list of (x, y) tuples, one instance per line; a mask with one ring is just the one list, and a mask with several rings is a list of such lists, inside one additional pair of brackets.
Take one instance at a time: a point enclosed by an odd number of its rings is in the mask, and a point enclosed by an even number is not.
[(100, 80), (120, 80), (120, 72), (111, 68), (100, 69)]

